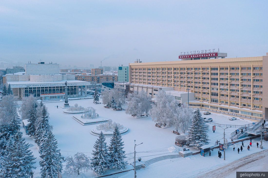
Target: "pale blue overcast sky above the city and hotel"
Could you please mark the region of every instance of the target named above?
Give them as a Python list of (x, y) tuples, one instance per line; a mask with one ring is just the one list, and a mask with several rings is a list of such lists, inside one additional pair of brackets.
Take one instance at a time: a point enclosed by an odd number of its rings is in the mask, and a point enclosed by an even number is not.
[(267, 7), (267, 0), (1, 1), (0, 58), (116, 66), (213, 48), (263, 56)]

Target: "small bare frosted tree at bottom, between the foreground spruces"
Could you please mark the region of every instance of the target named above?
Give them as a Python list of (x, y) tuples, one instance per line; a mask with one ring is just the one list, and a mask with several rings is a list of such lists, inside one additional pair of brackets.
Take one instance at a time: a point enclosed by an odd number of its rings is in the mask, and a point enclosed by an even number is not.
[(90, 161), (84, 153), (76, 153), (73, 157), (68, 157), (65, 160), (65, 172), (71, 175), (79, 175), (81, 171), (90, 169)]

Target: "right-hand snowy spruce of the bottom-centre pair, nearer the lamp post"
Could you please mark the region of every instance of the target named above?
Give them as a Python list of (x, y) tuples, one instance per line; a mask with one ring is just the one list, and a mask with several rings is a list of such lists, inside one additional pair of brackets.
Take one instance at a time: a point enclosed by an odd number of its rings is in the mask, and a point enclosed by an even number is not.
[(124, 149), (124, 142), (122, 141), (122, 136), (120, 133), (120, 130), (118, 126), (114, 128), (113, 136), (110, 140), (110, 146), (109, 146), (109, 156), (110, 156), (110, 164), (111, 167), (114, 167), (116, 169), (123, 170), (126, 165), (128, 164), (126, 161), (124, 161), (125, 151)]

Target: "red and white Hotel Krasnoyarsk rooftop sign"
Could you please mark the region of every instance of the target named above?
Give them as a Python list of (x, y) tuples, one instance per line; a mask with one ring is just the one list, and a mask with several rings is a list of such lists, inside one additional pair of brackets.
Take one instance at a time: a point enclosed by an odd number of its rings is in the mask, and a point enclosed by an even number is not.
[(201, 51), (190, 51), (190, 52), (181, 52), (179, 59), (183, 58), (193, 58), (193, 57), (216, 57), (218, 52), (215, 52), (215, 49), (206, 49)]

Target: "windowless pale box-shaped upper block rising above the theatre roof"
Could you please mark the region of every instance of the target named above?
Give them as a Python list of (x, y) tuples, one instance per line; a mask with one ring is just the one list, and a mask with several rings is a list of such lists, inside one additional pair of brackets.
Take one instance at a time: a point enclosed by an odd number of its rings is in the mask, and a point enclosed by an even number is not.
[(59, 64), (25, 64), (27, 75), (59, 74)]

